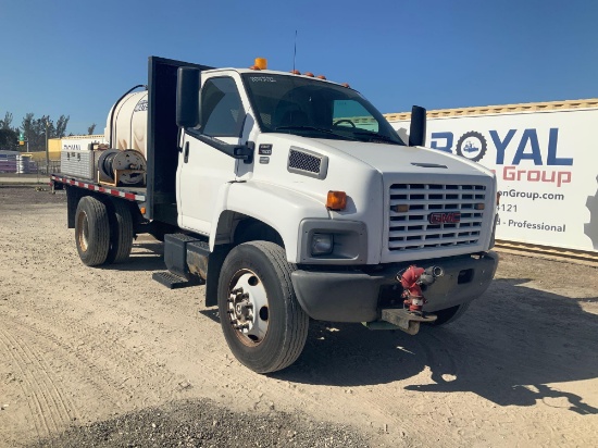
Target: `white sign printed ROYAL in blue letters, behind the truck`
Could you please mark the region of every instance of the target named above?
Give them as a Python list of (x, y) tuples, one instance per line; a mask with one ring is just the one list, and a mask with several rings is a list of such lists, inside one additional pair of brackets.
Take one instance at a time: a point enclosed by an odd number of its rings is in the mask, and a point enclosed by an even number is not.
[(448, 116), (428, 119), (426, 146), (496, 173), (497, 239), (598, 251), (596, 132), (598, 109)]

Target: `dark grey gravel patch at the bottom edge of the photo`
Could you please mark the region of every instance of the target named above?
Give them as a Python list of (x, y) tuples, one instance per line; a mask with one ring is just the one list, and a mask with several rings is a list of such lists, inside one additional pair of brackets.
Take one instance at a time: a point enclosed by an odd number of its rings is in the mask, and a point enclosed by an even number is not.
[(145, 409), (41, 440), (43, 447), (367, 447), (363, 435), (342, 425), (285, 412), (233, 412), (211, 400)]

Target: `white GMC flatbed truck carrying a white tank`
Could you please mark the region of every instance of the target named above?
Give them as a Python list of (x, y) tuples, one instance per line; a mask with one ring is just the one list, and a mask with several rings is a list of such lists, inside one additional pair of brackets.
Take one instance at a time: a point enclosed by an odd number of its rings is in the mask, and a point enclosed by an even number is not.
[(439, 325), (490, 284), (495, 175), (409, 141), (347, 85), (311, 73), (149, 59), (149, 84), (109, 113), (105, 145), (62, 153), (54, 188), (90, 266), (164, 241), (175, 288), (205, 283), (235, 357), (290, 365), (310, 319)]

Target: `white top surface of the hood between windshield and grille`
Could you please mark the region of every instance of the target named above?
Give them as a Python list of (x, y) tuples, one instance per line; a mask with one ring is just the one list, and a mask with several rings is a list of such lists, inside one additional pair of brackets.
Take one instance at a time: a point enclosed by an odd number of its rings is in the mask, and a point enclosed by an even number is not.
[(424, 147), (370, 144), (362, 141), (315, 139), (319, 144), (352, 155), (381, 173), (418, 174), (438, 170), (461, 175), (494, 174), (478, 163)]

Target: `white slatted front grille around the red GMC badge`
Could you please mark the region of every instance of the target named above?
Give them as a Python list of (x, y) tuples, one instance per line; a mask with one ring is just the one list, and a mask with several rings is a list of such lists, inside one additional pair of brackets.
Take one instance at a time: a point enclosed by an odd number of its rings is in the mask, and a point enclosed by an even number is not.
[[(478, 244), (486, 203), (483, 185), (394, 184), (390, 186), (388, 249), (410, 251)], [(398, 207), (400, 206), (400, 207)], [(408, 207), (408, 211), (397, 210)], [(460, 214), (458, 223), (432, 220)], [(440, 220), (441, 221), (441, 220)]]

